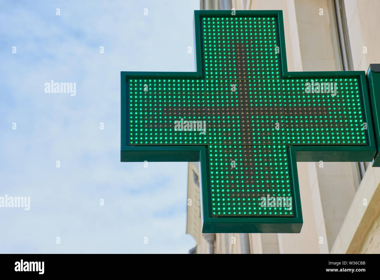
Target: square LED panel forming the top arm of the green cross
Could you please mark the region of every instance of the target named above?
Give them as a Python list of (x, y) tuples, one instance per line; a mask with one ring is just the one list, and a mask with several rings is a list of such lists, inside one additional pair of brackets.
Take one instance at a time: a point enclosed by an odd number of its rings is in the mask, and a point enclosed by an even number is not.
[(274, 17), (204, 17), (202, 40), (209, 80), (279, 78)]

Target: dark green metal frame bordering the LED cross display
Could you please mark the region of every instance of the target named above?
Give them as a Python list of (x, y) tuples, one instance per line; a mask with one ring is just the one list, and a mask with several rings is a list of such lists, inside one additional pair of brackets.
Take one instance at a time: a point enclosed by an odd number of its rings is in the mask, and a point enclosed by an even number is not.
[[(236, 16), (272, 16), (277, 19), (277, 28), (280, 44), (280, 76), (287, 78), (357, 78), (361, 84), (361, 101), (364, 104), (364, 119), (367, 122), (367, 139), (364, 146), (287, 146), (290, 165), (290, 186), (293, 194), (293, 217), (231, 217), (220, 218), (211, 216), (211, 195), (209, 161), (207, 159), (207, 146), (129, 146), (128, 123), (128, 80), (136, 78), (193, 78), (204, 79), (204, 66), (201, 60), (201, 16), (231, 16), (231, 11), (194, 11), (194, 42), (195, 42), (195, 72), (121, 72), (121, 161), (122, 162), (188, 162), (199, 161), (201, 178), (199, 180), (201, 199), (202, 232), (260, 232), (260, 233), (299, 233), (302, 227), (301, 198), (297, 173), (297, 161), (301, 162), (361, 162), (372, 161), (377, 153), (374, 126), (370, 106), (370, 97), (367, 86), (366, 73), (364, 71), (345, 72), (288, 72), (285, 53), (285, 37), (283, 28), (282, 11), (236, 11)], [(372, 73), (372, 72), (371, 72)], [(372, 74), (369, 74), (369, 77)], [(380, 75), (380, 73), (378, 74)], [(376, 76), (378, 77), (378, 76)], [(377, 78), (378, 83), (380, 79)], [(377, 84), (378, 86), (378, 84)], [(373, 89), (371, 91), (373, 95)], [(380, 110), (380, 100), (372, 97), (376, 102), (376, 109)], [(376, 111), (377, 112), (377, 111)], [(379, 114), (380, 115), (380, 114)], [(379, 133), (380, 119), (375, 119), (377, 134)], [(377, 135), (377, 139), (380, 136)], [(378, 145), (380, 146), (380, 145)], [(380, 161), (379, 161), (380, 162)]]

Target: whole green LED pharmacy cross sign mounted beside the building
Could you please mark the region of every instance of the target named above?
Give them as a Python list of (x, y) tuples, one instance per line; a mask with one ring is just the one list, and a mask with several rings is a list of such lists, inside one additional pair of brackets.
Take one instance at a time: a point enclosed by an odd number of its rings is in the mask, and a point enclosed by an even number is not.
[(377, 153), (365, 72), (288, 72), (282, 11), (195, 11), (194, 40), (196, 72), (121, 72), (121, 161), (198, 161), (203, 232), (299, 233), (296, 162)]

